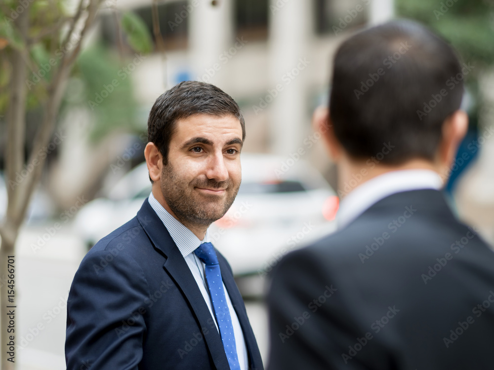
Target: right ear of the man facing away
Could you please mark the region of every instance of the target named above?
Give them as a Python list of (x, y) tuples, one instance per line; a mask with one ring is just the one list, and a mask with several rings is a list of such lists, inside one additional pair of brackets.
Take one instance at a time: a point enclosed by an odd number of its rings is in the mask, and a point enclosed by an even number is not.
[(458, 146), (468, 129), (468, 115), (465, 111), (454, 111), (443, 122), (441, 144), (439, 146), (440, 165), (450, 168), (456, 157)]

